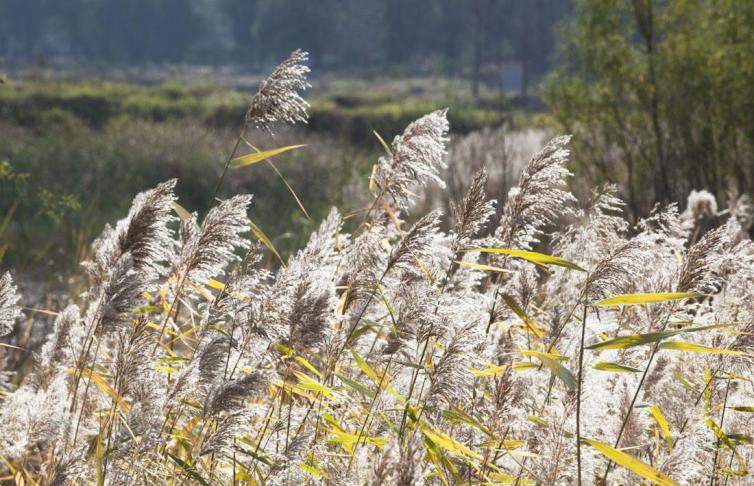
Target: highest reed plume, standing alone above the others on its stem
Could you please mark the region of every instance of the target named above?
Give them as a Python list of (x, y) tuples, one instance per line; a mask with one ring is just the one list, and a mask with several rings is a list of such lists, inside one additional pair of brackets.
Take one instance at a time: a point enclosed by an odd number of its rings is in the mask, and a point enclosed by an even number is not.
[(306, 123), (309, 104), (299, 91), (309, 87), (309, 68), (304, 64), (308, 60), (309, 54), (297, 49), (262, 81), (246, 112), (247, 126), (272, 132), (275, 123)]

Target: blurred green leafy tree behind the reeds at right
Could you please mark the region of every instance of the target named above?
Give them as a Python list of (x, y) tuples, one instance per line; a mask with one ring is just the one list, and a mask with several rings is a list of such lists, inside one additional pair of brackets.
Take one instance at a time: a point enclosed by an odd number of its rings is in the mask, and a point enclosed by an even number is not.
[(578, 169), (599, 181), (619, 168), (634, 214), (693, 188), (750, 190), (754, 3), (575, 3), (544, 92), (579, 135)]

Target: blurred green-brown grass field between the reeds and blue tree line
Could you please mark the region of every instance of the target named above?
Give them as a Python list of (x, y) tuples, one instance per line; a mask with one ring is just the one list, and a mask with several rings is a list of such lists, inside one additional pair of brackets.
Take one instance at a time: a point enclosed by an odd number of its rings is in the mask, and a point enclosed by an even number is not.
[[(252, 138), (262, 148), (307, 144), (276, 162), (314, 219), (343, 196), (363, 194), (381, 152), (374, 131), (390, 140), (411, 120), (450, 104), (454, 135), (503, 122), (542, 123), (501, 107), (494, 92), (472, 101), (460, 80), (324, 78), (312, 84), (305, 129)], [(72, 268), (76, 259), (64, 255), (82, 255), (85, 242), (121, 214), (134, 193), (166, 178), (178, 177), (182, 201), (202, 211), (250, 97), (206, 82), (7, 80), (0, 85), (5, 260), (22, 268), (45, 262)], [(234, 173), (228, 188), (264, 195), (254, 202), (257, 222), (280, 239), (282, 251), (298, 247), (312, 229), (269, 167)]]

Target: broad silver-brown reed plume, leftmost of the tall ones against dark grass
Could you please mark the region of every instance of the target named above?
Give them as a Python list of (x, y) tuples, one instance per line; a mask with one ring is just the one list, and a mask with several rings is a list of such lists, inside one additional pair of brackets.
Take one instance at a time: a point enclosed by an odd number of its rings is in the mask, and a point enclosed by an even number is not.
[(153, 273), (162, 270), (173, 254), (173, 235), (168, 224), (175, 220), (172, 216), (175, 184), (176, 179), (172, 179), (138, 194), (128, 216), (115, 228), (105, 227), (92, 245), (94, 258), (82, 264), (95, 282), (101, 283), (126, 253), (131, 255), (137, 270)]

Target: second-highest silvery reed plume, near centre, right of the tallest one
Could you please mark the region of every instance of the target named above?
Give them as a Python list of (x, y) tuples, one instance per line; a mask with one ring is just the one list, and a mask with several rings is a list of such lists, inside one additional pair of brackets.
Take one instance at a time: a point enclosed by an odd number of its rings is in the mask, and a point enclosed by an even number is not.
[(381, 193), (389, 195), (399, 209), (408, 207), (411, 188), (432, 181), (444, 187), (439, 169), (448, 142), (448, 110), (437, 110), (411, 122), (403, 135), (393, 139), (392, 153), (380, 157), (374, 181)]

